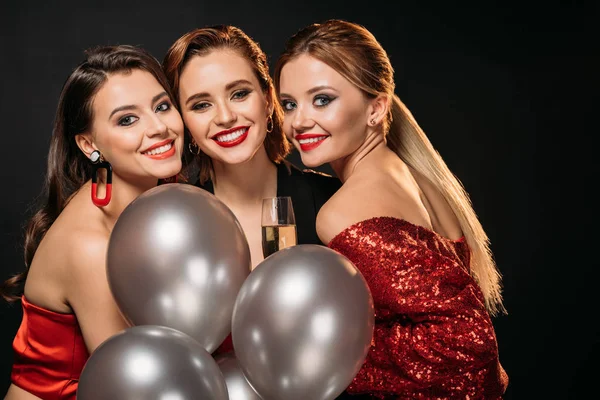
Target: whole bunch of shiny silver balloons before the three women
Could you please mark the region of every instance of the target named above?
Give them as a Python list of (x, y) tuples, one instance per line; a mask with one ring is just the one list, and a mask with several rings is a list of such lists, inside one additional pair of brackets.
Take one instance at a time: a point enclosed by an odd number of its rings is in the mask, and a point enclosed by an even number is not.
[[(191, 185), (133, 201), (106, 268), (131, 328), (91, 354), (78, 400), (331, 400), (371, 344), (373, 299), (347, 258), (298, 245), (251, 272), (234, 214)], [(230, 333), (235, 354), (213, 357)]]

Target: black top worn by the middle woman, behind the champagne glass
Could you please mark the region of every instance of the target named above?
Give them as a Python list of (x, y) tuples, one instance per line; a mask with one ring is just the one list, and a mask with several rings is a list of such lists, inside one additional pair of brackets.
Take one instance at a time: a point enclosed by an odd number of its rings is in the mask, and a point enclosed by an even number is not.
[[(194, 185), (215, 193), (210, 180), (204, 185), (196, 181)], [(323, 204), (341, 185), (340, 180), (335, 177), (310, 169), (300, 170), (288, 161), (277, 164), (277, 196), (292, 198), (298, 244), (327, 244), (319, 240), (315, 221)]]

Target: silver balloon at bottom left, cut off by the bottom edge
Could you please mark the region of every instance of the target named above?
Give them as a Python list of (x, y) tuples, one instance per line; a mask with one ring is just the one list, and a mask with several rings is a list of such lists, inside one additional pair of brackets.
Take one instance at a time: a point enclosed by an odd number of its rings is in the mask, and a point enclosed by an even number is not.
[(194, 339), (164, 326), (136, 326), (88, 359), (77, 400), (228, 400), (225, 378)]

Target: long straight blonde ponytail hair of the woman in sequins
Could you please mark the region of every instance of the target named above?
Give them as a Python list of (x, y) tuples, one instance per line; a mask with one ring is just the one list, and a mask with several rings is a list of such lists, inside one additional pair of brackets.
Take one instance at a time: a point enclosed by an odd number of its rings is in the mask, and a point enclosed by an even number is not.
[(342, 20), (329, 20), (301, 29), (288, 41), (275, 64), (274, 81), (278, 92), (281, 69), (302, 54), (329, 65), (369, 98), (381, 94), (388, 96), (392, 106), (383, 122), (387, 146), (444, 195), (471, 248), (471, 274), (481, 287), (488, 310), (491, 314), (505, 312), (501, 277), (490, 251), (488, 236), (464, 187), (394, 93), (394, 69), (375, 36), (361, 25)]

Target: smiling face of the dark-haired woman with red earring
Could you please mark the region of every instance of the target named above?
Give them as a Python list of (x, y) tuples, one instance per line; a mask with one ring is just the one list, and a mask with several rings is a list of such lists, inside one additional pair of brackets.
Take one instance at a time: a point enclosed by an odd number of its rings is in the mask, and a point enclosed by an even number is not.
[(183, 121), (152, 74), (133, 70), (110, 75), (92, 110), (90, 143), (116, 175), (160, 179), (179, 173)]

